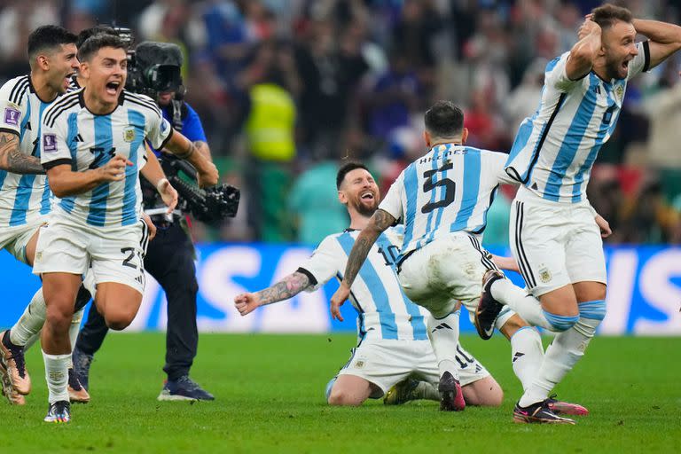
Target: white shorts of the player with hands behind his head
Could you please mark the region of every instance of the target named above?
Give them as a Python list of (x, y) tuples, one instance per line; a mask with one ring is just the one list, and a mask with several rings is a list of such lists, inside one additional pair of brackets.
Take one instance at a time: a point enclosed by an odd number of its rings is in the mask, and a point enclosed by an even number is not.
[(603, 240), (587, 200), (559, 204), (521, 187), (509, 230), (513, 257), (537, 298), (575, 282), (607, 284)]

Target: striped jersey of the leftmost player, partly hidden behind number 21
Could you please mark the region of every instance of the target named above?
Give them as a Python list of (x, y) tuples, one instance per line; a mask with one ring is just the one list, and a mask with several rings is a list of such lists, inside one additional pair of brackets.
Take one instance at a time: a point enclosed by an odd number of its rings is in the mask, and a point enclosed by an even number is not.
[[(40, 156), (40, 117), (51, 103), (38, 98), (28, 75), (0, 88), (0, 132), (18, 134), (20, 152)], [(23, 225), (47, 215), (51, 191), (44, 175), (19, 175), (0, 170), (0, 228)]]

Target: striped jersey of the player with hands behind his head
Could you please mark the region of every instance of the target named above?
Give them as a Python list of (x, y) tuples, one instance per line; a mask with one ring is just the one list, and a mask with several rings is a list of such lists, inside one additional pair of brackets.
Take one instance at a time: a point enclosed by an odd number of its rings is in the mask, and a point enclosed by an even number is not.
[(546, 66), (539, 107), (521, 123), (506, 172), (545, 200), (586, 200), (591, 167), (614, 131), (627, 81), (648, 70), (648, 42), (638, 43), (637, 49), (622, 80), (604, 81), (591, 71), (571, 81), (569, 52), (553, 59)]

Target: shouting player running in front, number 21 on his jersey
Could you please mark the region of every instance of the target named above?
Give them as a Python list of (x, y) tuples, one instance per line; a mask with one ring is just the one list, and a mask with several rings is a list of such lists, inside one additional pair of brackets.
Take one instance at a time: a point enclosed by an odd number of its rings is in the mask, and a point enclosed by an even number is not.
[(125, 44), (113, 35), (90, 37), (79, 49), (86, 86), (43, 114), (41, 162), (61, 200), (36, 245), (34, 272), (43, 275), (47, 320), (42, 344), (50, 408), (45, 421), (67, 422), (67, 335), (75, 292), (90, 265), (96, 303), (107, 325), (125, 328), (142, 301), (142, 258), (147, 228), (140, 222), (137, 174), (145, 139), (189, 160), (200, 185), (215, 184), (217, 170), (163, 120), (150, 98), (123, 86)]

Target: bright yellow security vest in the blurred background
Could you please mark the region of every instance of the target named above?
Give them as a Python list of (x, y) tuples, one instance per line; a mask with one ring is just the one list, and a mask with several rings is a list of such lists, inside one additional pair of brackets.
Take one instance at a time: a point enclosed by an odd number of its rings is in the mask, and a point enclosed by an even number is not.
[(246, 132), (250, 152), (259, 160), (294, 159), (294, 99), (274, 83), (256, 84), (249, 93), (251, 110)]

